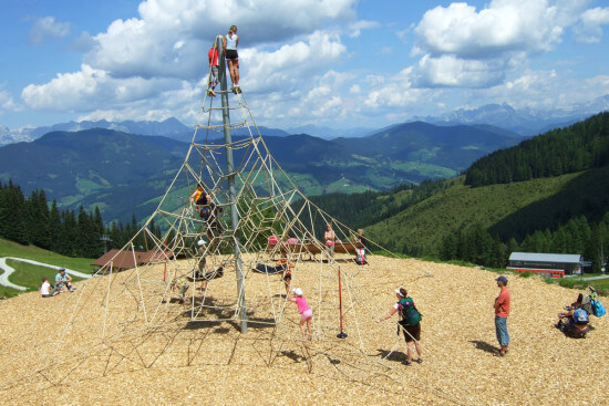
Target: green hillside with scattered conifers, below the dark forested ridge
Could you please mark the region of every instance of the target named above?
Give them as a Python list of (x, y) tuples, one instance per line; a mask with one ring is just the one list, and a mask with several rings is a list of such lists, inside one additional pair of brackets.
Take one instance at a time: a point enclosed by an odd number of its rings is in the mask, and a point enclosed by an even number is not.
[(342, 197), (318, 205), (394, 252), (499, 268), (518, 250), (582, 253), (595, 269), (609, 252), (609, 167), (477, 188), (461, 176), (424, 190)]

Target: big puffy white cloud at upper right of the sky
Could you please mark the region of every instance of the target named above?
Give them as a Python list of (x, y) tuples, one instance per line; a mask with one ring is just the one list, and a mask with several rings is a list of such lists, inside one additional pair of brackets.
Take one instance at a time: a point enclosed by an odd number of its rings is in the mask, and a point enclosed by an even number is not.
[(527, 56), (554, 50), (588, 0), (494, 0), (476, 10), (452, 3), (429, 10), (411, 55), (422, 54), (417, 86), (488, 87)]

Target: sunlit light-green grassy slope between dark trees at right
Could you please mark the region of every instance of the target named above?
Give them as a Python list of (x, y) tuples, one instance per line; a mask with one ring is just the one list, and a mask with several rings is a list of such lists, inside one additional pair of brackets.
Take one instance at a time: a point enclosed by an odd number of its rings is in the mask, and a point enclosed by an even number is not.
[[(409, 247), (433, 254), (448, 232), (476, 223), (484, 227), (495, 225), (510, 214), (559, 192), (578, 175), (479, 188), (464, 186), (464, 177), (460, 177), (442, 192), (369, 227), (367, 233), (382, 246), (389, 241), (406, 241)], [(431, 247), (432, 252), (425, 247)]]

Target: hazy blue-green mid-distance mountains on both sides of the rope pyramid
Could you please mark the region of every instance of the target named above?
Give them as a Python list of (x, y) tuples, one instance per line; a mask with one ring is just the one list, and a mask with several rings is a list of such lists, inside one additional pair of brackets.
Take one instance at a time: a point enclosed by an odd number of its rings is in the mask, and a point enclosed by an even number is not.
[[(265, 136), (272, 156), (308, 195), (452, 177), (475, 159), (519, 140), (492, 126), (421, 122), (361, 138)], [(166, 190), (187, 149), (188, 143), (114, 129), (51, 132), (30, 143), (0, 147), (0, 180), (11, 179), (25, 194), (44, 189), (60, 207), (99, 206), (106, 221), (128, 220), (132, 214), (143, 218)], [(239, 154), (235, 153), (236, 162)], [(177, 200), (176, 205), (183, 202)]]

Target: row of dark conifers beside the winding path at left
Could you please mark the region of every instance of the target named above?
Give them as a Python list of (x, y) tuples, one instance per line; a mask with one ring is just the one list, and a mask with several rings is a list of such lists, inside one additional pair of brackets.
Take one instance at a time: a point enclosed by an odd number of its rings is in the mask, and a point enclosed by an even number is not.
[[(152, 222), (149, 229), (161, 236), (161, 229)], [(105, 249), (122, 248), (140, 230), (135, 215), (131, 222), (113, 221), (104, 226), (100, 209), (86, 211), (59, 209), (56, 200), (50, 205), (43, 189), (32, 190), (24, 197), (21, 187), (0, 183), (0, 237), (32, 244), (68, 257), (97, 258)], [(102, 236), (110, 241), (102, 240)], [(145, 249), (143, 235), (134, 240), (137, 248)]]

